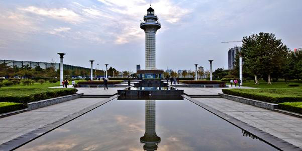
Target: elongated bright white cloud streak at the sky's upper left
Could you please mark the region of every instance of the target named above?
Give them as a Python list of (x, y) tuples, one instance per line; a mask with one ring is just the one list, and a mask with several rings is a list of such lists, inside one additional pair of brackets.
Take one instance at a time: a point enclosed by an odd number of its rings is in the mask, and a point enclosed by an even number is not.
[(57, 20), (63, 20), (72, 24), (82, 22), (84, 19), (81, 18), (78, 14), (74, 13), (72, 10), (66, 8), (61, 9), (43, 9), (37, 8), (34, 6), (28, 8), (20, 8), (19, 10), (30, 12), (36, 15), (41, 15)]

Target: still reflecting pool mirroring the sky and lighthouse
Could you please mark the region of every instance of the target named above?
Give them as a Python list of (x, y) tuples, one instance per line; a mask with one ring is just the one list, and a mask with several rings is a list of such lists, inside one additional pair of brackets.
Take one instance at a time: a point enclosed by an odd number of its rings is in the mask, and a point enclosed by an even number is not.
[(17, 150), (276, 150), (184, 100), (112, 100)]

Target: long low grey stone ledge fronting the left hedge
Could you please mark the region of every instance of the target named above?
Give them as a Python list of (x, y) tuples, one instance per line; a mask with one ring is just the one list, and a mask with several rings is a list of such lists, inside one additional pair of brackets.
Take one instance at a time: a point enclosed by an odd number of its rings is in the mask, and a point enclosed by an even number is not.
[(30, 111), (30, 110), (50, 106), (53, 104), (58, 104), (61, 102), (77, 99), (77, 98), (81, 97), (82, 95), (83, 94), (80, 93), (80, 94), (73, 94), (73, 95), (68, 95), (68, 96), (63, 96), (63, 97), (41, 100), (41, 101), (37, 101), (37, 102), (31, 102), (28, 104), (28, 110)]

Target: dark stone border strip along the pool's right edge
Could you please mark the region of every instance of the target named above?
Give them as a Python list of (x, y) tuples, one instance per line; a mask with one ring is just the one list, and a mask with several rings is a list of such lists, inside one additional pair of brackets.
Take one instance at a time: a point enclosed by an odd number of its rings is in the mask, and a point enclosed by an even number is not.
[(207, 111), (217, 115), (218, 117), (228, 121), (229, 123), (235, 125), (236, 127), (243, 129), (245, 131), (248, 131), (250, 133), (252, 133), (253, 135), (257, 136), (260, 140), (266, 142), (267, 144), (279, 149), (279, 150), (302, 150), (302, 148), (299, 148), (287, 141), (284, 141), (274, 135), (271, 135), (259, 128), (256, 128), (248, 123), (245, 123), (239, 119), (236, 119), (226, 113), (223, 113), (217, 109), (214, 109), (204, 103), (201, 103), (193, 98), (190, 98), (186, 95), (182, 95), (184, 98), (186, 98), (187, 100), (191, 101), (192, 103), (206, 109)]

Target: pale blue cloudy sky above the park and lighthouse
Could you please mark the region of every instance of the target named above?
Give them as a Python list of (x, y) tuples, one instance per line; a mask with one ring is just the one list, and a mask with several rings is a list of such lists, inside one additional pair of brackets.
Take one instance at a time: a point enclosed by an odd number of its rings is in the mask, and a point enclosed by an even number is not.
[[(88, 60), (119, 70), (145, 66), (140, 20), (150, 1), (0, 1), (0, 59), (59, 62), (89, 67)], [(302, 1), (152, 1), (161, 22), (156, 66), (193, 69), (195, 63), (227, 68), (227, 51), (243, 36), (274, 33), (290, 49), (302, 47)]]

